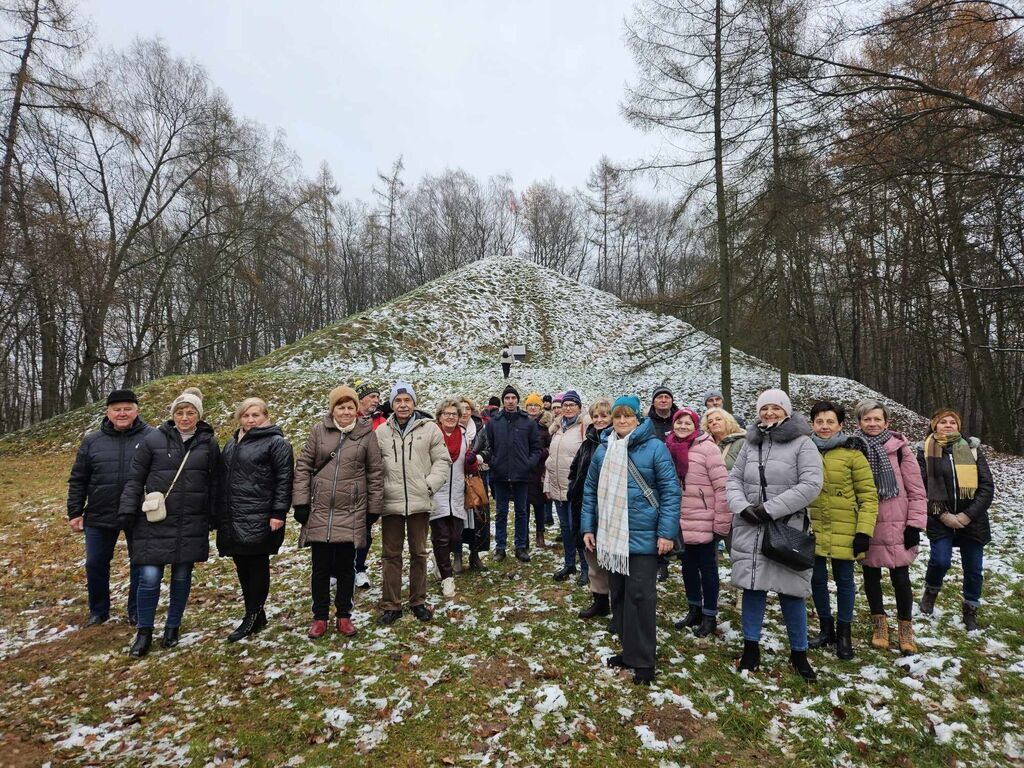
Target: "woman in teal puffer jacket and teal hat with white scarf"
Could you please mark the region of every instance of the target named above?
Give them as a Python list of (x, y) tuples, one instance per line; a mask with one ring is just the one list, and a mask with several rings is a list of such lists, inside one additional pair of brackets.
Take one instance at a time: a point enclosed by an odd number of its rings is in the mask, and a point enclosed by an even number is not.
[(672, 455), (641, 421), (640, 398), (624, 395), (611, 409), (584, 487), (584, 545), (608, 570), (611, 626), (623, 652), (610, 667), (633, 670), (633, 682), (654, 679), (657, 556), (679, 534), (681, 493)]

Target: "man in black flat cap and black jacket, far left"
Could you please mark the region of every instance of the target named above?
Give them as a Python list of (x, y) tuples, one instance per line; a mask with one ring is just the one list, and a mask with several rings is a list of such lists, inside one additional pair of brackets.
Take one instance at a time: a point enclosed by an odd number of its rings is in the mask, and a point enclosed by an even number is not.
[[(135, 449), (153, 431), (138, 415), (138, 398), (130, 389), (116, 389), (106, 398), (106, 415), (95, 432), (82, 440), (68, 480), (68, 520), (85, 534), (85, 574), (89, 592), (87, 627), (111, 614), (111, 560), (121, 532), (118, 506), (128, 479)], [(131, 551), (131, 537), (125, 530)], [(137, 571), (128, 584), (128, 621), (135, 625)]]

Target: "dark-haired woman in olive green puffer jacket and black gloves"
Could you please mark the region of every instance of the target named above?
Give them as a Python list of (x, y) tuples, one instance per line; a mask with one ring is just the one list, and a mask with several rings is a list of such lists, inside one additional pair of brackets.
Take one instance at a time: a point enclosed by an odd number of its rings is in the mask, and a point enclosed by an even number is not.
[[(842, 406), (827, 400), (811, 408), (811, 439), (821, 452), (824, 484), (811, 504), (815, 540), (811, 595), (821, 634), (808, 643), (811, 648), (836, 645), (836, 655), (844, 659), (853, 658), (853, 563), (867, 552), (879, 515), (879, 494), (864, 454), (866, 445), (859, 437), (843, 434), (845, 417)], [(828, 559), (836, 580), (837, 624), (828, 602)]]

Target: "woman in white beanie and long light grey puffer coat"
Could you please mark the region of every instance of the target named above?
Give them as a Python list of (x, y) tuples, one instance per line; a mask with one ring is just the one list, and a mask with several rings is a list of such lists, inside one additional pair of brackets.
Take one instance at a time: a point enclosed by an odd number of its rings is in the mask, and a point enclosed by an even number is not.
[(732, 511), (732, 584), (743, 590), (743, 655), (740, 670), (761, 663), (761, 629), (769, 592), (778, 594), (790, 636), (790, 664), (808, 681), (816, 675), (807, 662), (807, 605), (811, 569), (795, 570), (762, 552), (765, 526), (784, 521), (803, 529), (807, 507), (821, 492), (821, 456), (811, 428), (793, 413), (790, 397), (768, 389), (758, 397), (757, 423), (736, 457), (726, 484)]

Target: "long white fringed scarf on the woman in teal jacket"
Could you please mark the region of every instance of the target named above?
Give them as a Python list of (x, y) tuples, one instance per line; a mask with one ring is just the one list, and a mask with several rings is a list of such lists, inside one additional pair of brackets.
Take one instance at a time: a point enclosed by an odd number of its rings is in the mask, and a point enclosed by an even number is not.
[(597, 562), (613, 573), (630, 574), (630, 435), (608, 435), (597, 480)]

